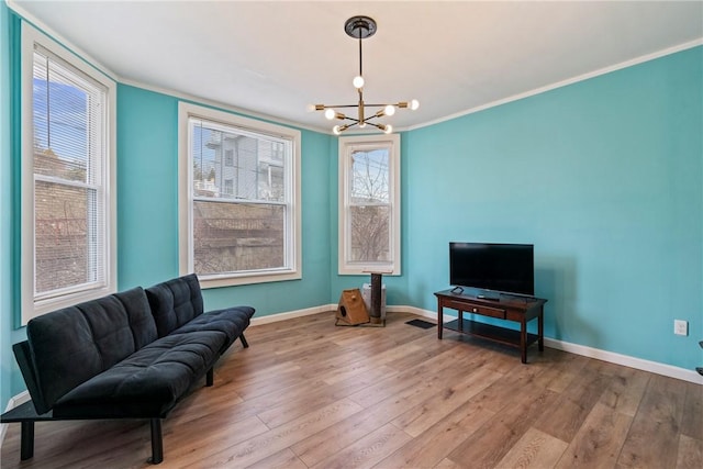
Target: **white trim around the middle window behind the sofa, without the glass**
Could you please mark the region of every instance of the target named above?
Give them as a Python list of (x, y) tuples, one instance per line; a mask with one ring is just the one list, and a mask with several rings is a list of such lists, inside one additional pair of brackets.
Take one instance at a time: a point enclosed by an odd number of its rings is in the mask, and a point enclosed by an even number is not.
[(301, 133), (294, 129), (284, 127), (254, 119), (243, 118), (237, 114), (217, 111), (211, 108), (191, 104), (188, 102), (178, 103), (178, 260), (180, 275), (187, 275), (193, 268), (193, 200), (192, 200), (192, 165), (189, 164), (189, 125), (190, 118), (201, 118), (208, 121), (221, 122), (225, 125), (234, 125), (246, 129), (255, 133), (265, 133), (291, 139), (292, 144), (292, 167), (290, 170), (292, 188), (291, 208), (293, 211), (293, 225), (290, 233), (290, 241), (293, 249), (291, 266), (286, 269), (271, 269), (268, 271), (237, 272), (220, 276), (199, 277), (200, 286), (203, 289), (219, 288), (237, 284), (265, 283), (283, 280), (299, 280), (302, 278), (302, 243), (301, 243), (301, 188), (300, 188), (300, 155), (301, 155)]

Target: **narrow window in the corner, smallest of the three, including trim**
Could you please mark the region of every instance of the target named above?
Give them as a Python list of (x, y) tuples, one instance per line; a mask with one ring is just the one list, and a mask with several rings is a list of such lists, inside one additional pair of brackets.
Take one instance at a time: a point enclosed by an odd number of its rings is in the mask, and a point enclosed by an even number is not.
[(339, 273), (400, 275), (400, 136), (339, 137)]

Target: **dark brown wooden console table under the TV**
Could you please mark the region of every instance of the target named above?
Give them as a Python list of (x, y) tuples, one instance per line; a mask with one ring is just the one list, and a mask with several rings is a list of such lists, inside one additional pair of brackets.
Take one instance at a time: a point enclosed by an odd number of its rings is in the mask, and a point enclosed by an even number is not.
[[(496, 298), (487, 299), (469, 293), (458, 293), (444, 290), (435, 293), (437, 297), (437, 338), (442, 339), (444, 328), (462, 334), (470, 334), (489, 340), (507, 344), (520, 348), (521, 360), (527, 362), (527, 347), (537, 342), (539, 350), (545, 349), (544, 343), (544, 304), (547, 300), (540, 298), (517, 297), (494, 293)], [(458, 319), (444, 323), (444, 309), (456, 310)], [(464, 312), (482, 316), (496, 317), (504, 321), (520, 323), (520, 331), (483, 324), (465, 320)], [(537, 335), (527, 333), (527, 323), (537, 319)]]

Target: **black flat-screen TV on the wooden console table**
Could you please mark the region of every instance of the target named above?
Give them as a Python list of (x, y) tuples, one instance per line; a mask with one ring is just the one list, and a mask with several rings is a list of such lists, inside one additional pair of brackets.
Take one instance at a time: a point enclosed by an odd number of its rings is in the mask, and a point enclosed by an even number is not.
[(532, 244), (449, 243), (449, 283), (535, 294)]

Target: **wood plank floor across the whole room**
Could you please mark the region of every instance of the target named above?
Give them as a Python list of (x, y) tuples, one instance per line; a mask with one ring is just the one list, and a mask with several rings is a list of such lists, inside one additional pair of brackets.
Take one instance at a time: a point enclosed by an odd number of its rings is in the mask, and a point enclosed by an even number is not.
[[(164, 421), (161, 468), (701, 468), (703, 387), (555, 349), (405, 324), (335, 327), (334, 313), (249, 327)], [(149, 467), (147, 422), (37, 423), (20, 464)]]

